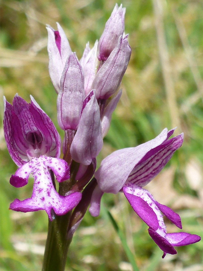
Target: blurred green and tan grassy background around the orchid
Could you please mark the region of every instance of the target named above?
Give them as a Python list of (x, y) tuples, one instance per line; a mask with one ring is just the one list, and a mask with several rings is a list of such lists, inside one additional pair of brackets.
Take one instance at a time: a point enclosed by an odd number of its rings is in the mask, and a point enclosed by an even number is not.
[[(57, 95), (48, 74), (45, 24), (58, 21), (78, 58), (103, 32), (116, 1), (1, 1), (1, 270), (40, 270), (47, 234), (44, 211), (9, 211), (15, 198), (31, 196), (32, 179), (23, 188), (9, 184), (17, 166), (4, 141), (2, 95), (34, 96), (57, 127)], [(118, 2), (120, 4), (120, 2)], [(123, 94), (112, 117), (97, 163), (112, 151), (151, 140), (163, 128), (178, 126), (184, 143), (165, 169), (146, 187), (155, 199), (182, 218), (183, 231), (202, 236), (202, 2), (199, 0), (123, 0), (125, 33), (132, 56), (122, 81)], [(123, 169), (121, 169), (123, 170)], [(105, 207), (104, 207), (105, 206)], [(132, 266), (105, 208), (109, 209), (140, 270), (202, 270), (202, 241), (162, 251), (148, 235), (123, 194), (106, 194), (97, 218), (86, 213), (70, 246), (66, 270), (130, 271)], [(178, 231), (167, 219), (168, 232)]]

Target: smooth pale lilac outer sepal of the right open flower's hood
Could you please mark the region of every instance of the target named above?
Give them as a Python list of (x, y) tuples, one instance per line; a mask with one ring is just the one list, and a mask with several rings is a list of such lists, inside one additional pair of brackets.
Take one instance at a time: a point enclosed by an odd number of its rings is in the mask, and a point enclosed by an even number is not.
[(159, 146), (167, 137), (165, 128), (156, 138), (135, 148), (115, 151), (101, 162), (94, 176), (103, 192), (118, 193), (130, 172), (148, 151)]

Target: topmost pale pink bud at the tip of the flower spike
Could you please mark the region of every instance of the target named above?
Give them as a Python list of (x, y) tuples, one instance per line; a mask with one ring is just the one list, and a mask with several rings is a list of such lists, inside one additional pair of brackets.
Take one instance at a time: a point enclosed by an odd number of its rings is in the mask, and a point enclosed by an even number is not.
[(98, 48), (97, 48), (97, 58), (101, 61), (107, 60), (110, 53), (116, 47), (118, 38), (123, 35), (125, 24), (126, 9), (120, 7), (116, 4), (109, 20), (105, 24), (104, 31), (102, 36), (99, 39)]

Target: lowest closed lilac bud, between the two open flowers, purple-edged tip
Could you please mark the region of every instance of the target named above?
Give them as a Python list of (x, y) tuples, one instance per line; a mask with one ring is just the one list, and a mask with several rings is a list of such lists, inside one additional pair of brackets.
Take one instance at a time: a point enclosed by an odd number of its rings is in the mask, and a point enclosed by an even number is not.
[(73, 160), (84, 165), (89, 165), (103, 146), (99, 106), (95, 95), (92, 95), (92, 92), (90, 95), (91, 98), (82, 111), (70, 148)]

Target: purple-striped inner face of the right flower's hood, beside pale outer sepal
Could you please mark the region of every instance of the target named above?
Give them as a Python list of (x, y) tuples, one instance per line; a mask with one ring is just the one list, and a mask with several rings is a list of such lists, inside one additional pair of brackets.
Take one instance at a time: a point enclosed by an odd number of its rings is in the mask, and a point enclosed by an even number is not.
[(174, 152), (181, 147), (182, 142), (183, 134), (166, 140), (161, 145), (150, 150), (142, 160), (136, 164), (127, 182), (142, 187), (147, 185), (163, 169)]

